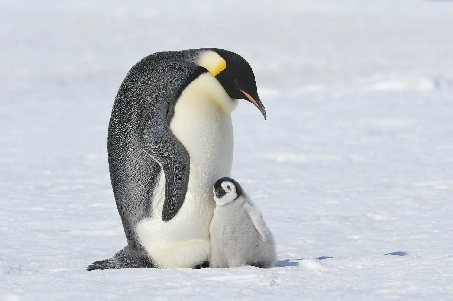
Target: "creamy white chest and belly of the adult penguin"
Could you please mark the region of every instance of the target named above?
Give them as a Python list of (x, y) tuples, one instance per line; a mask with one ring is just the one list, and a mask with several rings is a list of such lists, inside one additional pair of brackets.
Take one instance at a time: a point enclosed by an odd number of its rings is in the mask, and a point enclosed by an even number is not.
[[(215, 208), (212, 186), (217, 179), (231, 174), (231, 114), (225, 112), (218, 99), (212, 99), (212, 93), (200, 91), (200, 86), (203, 85), (197, 79), (184, 90), (170, 123), (170, 129), (190, 157), (188, 189), (183, 205), (172, 220), (162, 220), (165, 176), (161, 172), (154, 189), (151, 217), (135, 227), (140, 243), (161, 268), (193, 268), (208, 260), (209, 224)], [(224, 97), (222, 92), (226, 94), (223, 88), (218, 93)], [(216, 93), (213, 95), (218, 97)], [(229, 97), (220, 101), (231, 101), (234, 107), (237, 105), (237, 100)]]

